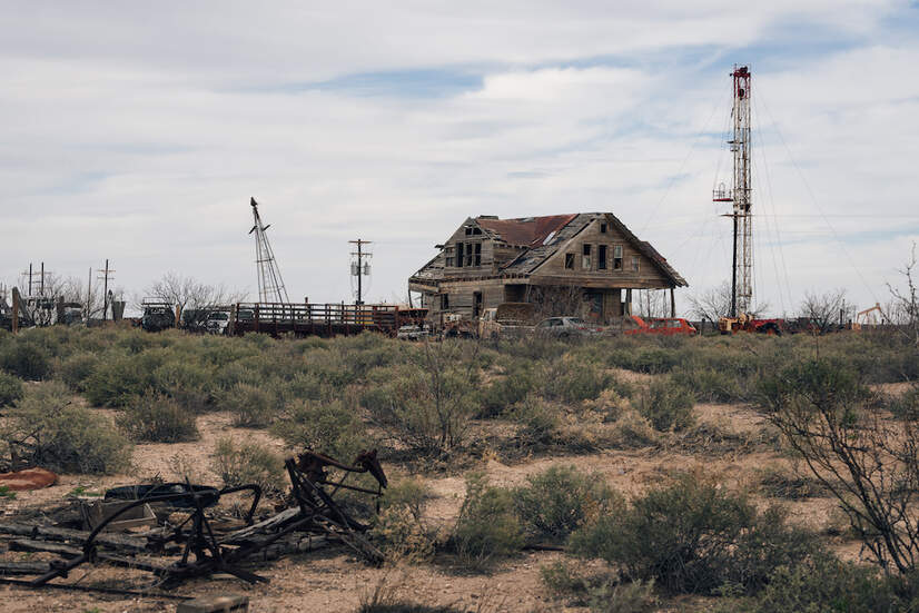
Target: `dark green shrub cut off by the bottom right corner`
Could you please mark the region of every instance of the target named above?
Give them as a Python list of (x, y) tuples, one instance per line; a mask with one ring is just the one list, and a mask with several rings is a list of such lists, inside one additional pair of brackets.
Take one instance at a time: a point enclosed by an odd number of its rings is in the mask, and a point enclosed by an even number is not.
[(876, 613), (916, 611), (917, 581), (911, 576), (883, 576), (871, 566), (842, 562), (830, 555), (802, 564), (782, 565), (749, 611), (800, 613), (846, 611)]

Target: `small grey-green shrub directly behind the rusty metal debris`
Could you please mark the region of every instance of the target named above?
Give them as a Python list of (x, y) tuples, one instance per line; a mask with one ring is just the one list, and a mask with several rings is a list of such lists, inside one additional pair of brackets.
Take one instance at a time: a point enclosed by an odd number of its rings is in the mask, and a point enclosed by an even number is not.
[(267, 445), (225, 436), (217, 439), (211, 459), (224, 487), (256, 483), (266, 492), (284, 488), (284, 459)]

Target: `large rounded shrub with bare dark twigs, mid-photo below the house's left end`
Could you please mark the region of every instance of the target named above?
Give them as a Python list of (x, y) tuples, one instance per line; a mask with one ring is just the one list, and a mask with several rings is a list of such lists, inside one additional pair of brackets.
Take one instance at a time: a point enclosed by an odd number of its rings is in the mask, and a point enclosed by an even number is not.
[(460, 343), (425, 345), (412, 363), (378, 368), (360, 401), (407, 449), (444, 457), (462, 447), (480, 405), (474, 356)]

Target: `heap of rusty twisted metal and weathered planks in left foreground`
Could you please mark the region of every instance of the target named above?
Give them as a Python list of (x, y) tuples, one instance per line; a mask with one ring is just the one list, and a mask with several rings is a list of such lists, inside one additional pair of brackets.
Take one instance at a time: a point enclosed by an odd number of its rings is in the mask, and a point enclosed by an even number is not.
[[(255, 484), (218, 490), (190, 484), (159, 484), (111, 490), (106, 500), (116, 507), (95, 522), (91, 531), (21, 523), (0, 524), (0, 538), (11, 551), (43, 552), (58, 556), (50, 562), (0, 562), (0, 574), (38, 575), (28, 582), (0, 579), (0, 582), (30, 587), (60, 586), (52, 583), (85, 564), (109, 564), (144, 571), (169, 589), (184, 581), (227, 573), (249, 583), (268, 582), (251, 570), (254, 563), (294, 552), (342, 543), (378, 564), (383, 554), (366, 537), (369, 525), (358, 521), (339, 500), (354, 492), (376, 503), (387, 486), (386, 474), (376, 452), (364, 452), (354, 463), (306, 451), (286, 462), (290, 478), (288, 505), (274, 514), (260, 512), (261, 488)], [(342, 472), (332, 478), (329, 468)], [(350, 475), (366, 473), (376, 487), (346, 483)], [(216, 512), (219, 501), (234, 493), (251, 495), (241, 525), (224, 521)], [(167, 508), (168, 518), (140, 533), (108, 532), (138, 508)], [(178, 518), (176, 518), (178, 517)], [(259, 520), (259, 521), (257, 521)], [(107, 589), (111, 591), (111, 589)], [(136, 591), (125, 591), (132, 593)]]

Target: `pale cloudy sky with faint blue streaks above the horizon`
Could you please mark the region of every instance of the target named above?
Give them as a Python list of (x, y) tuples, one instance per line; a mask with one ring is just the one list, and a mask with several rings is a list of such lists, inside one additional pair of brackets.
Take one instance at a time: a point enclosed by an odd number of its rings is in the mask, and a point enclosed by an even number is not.
[(467, 216), (609, 210), (728, 278), (722, 141), (753, 72), (755, 293), (862, 307), (919, 238), (919, 3), (42, 2), (0, 13), (0, 281), (30, 261), (136, 295), (256, 293), (249, 197), (290, 297), (370, 298)]

